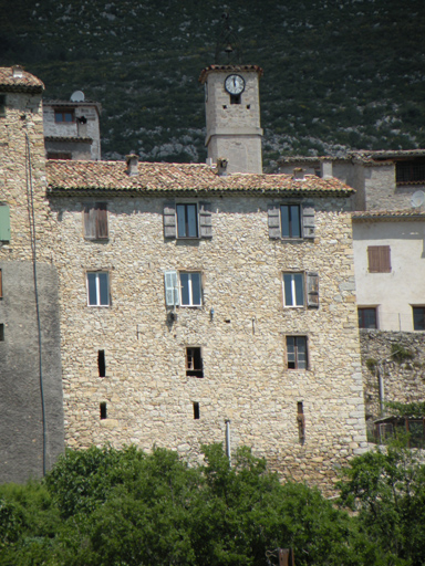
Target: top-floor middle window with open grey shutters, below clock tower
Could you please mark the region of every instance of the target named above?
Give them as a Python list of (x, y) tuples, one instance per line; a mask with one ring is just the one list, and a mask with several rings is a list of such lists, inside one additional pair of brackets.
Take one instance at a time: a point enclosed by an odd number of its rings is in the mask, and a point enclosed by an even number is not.
[(164, 206), (165, 238), (212, 238), (211, 210), (208, 202)]

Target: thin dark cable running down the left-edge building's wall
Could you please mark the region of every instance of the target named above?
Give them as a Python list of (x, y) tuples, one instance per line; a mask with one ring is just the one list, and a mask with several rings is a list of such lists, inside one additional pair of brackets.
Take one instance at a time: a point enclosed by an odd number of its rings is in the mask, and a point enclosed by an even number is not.
[(30, 220), (30, 240), (32, 250), (32, 272), (34, 277), (34, 297), (35, 297), (35, 313), (37, 313), (37, 327), (38, 327), (38, 343), (39, 343), (39, 376), (40, 376), (40, 398), (41, 398), (41, 420), (43, 431), (43, 476), (45, 475), (45, 460), (46, 460), (46, 426), (45, 426), (45, 405), (44, 405), (44, 390), (43, 390), (43, 366), (41, 359), (41, 322), (40, 322), (40, 304), (39, 304), (39, 289), (37, 283), (37, 239), (35, 239), (35, 212), (34, 212), (34, 191), (32, 186), (32, 163), (31, 163), (31, 147), (30, 139), (25, 133), (25, 177), (27, 177), (27, 201), (28, 214)]

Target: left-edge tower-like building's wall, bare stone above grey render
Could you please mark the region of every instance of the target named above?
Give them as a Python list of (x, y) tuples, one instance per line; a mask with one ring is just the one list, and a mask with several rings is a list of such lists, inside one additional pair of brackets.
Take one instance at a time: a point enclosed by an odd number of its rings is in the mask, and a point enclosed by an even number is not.
[(41, 96), (6, 93), (6, 116), (0, 118), (0, 202), (9, 206), (11, 237), (9, 242), (0, 242), (3, 287), (0, 324), (4, 328), (0, 342), (0, 482), (21, 482), (43, 472), (31, 201), (37, 228), (45, 467), (49, 469), (63, 450), (63, 400), (58, 275), (52, 265), (54, 224), (45, 199)]

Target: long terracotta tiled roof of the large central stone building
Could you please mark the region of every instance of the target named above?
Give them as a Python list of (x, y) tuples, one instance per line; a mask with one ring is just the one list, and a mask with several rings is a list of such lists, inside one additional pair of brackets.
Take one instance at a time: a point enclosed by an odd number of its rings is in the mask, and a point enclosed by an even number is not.
[(125, 161), (72, 161), (51, 159), (45, 164), (50, 193), (87, 191), (112, 192), (259, 192), (268, 195), (318, 195), (349, 197), (354, 189), (335, 178), (307, 175), (232, 174), (218, 176), (204, 164), (139, 163), (138, 174), (129, 176)]

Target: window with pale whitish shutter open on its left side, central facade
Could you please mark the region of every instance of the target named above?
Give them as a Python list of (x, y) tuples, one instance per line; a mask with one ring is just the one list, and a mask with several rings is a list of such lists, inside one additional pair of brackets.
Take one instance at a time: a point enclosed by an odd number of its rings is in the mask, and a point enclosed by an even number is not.
[(200, 272), (166, 271), (164, 274), (165, 304), (167, 306), (201, 306)]

